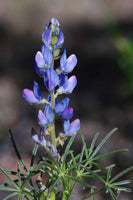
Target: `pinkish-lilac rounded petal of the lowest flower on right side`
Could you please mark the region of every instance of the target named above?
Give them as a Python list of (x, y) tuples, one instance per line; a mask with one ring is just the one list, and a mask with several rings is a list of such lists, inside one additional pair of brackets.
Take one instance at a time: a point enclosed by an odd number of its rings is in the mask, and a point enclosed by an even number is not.
[(68, 136), (75, 135), (79, 129), (80, 129), (80, 120), (76, 119), (70, 124), (69, 130), (65, 132), (65, 135), (68, 135)]

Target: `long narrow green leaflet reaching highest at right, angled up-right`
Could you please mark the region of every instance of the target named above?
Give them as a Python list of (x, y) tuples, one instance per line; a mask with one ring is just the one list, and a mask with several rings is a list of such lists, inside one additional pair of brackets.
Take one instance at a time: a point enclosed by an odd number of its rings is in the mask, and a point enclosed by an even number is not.
[(112, 131), (110, 131), (106, 137), (104, 137), (104, 139), (100, 142), (100, 144), (97, 146), (97, 148), (94, 150), (94, 152), (92, 153), (90, 159), (94, 158), (94, 156), (98, 153), (98, 151), (102, 148), (102, 146), (107, 142), (107, 140), (111, 137), (111, 135), (117, 130), (117, 128), (113, 129)]

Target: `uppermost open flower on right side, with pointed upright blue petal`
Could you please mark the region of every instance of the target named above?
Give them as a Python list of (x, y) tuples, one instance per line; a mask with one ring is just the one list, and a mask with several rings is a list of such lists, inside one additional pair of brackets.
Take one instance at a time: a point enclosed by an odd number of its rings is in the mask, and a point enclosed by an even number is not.
[(57, 68), (58, 73), (70, 73), (77, 64), (77, 58), (74, 54), (66, 57), (66, 49), (64, 50), (63, 55), (60, 58), (60, 66)]

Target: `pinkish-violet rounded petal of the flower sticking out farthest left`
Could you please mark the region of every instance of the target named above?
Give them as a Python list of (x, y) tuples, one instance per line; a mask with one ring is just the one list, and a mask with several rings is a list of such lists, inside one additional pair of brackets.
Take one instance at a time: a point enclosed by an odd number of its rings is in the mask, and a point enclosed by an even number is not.
[(32, 90), (24, 89), (23, 90), (23, 98), (28, 101), (29, 103), (39, 103), (39, 100), (35, 97)]

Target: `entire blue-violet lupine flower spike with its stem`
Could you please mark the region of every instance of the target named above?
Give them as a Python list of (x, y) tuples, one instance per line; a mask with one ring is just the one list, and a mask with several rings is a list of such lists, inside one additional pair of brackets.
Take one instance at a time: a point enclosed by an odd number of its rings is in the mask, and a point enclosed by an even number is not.
[[(44, 104), (44, 110), (39, 110), (37, 122), (40, 125), (39, 134), (32, 128), (31, 138), (40, 145), (43, 145), (57, 156), (57, 143), (65, 136), (76, 134), (80, 128), (80, 120), (76, 119), (70, 123), (73, 117), (73, 108), (69, 107), (70, 99), (65, 97), (58, 102), (61, 94), (70, 94), (77, 84), (76, 76), (68, 77), (77, 64), (74, 54), (67, 58), (66, 49), (60, 56), (61, 47), (64, 42), (64, 35), (60, 30), (57, 19), (52, 18), (45, 26), (42, 34), (43, 45), (41, 51), (35, 55), (35, 71), (43, 78), (47, 90), (50, 92), (47, 98), (42, 97), (41, 89), (36, 81), (33, 90), (24, 89), (23, 97), (30, 104)], [(60, 58), (60, 66), (54, 66), (54, 60)], [(55, 134), (55, 119), (59, 116), (63, 122), (63, 130)], [(49, 141), (47, 138), (51, 137)]]

